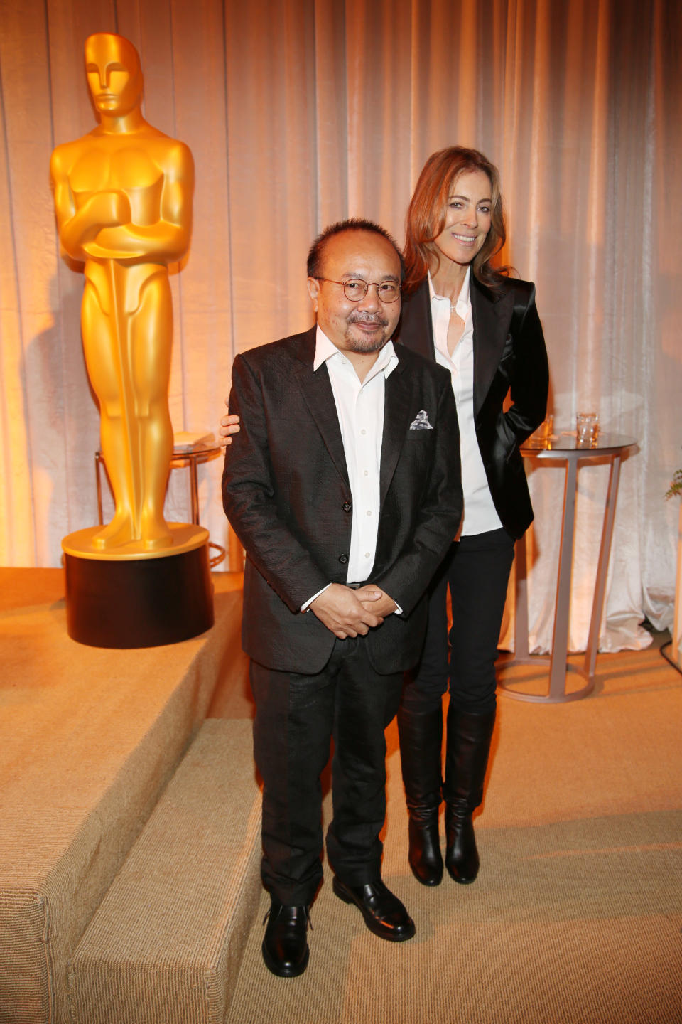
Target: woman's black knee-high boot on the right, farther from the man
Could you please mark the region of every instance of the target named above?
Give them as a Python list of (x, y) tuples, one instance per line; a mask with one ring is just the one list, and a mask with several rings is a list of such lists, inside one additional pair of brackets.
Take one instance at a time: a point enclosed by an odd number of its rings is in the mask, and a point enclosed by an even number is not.
[(455, 882), (467, 885), (479, 873), (479, 851), (471, 814), (483, 800), (483, 783), (495, 725), (495, 710), (485, 715), (448, 709), (445, 758), (445, 863)]

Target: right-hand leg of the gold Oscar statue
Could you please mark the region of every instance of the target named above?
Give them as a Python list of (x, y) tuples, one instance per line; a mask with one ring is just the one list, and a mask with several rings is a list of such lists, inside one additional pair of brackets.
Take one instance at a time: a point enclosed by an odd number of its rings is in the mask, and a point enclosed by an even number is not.
[(167, 274), (142, 287), (131, 318), (131, 376), (140, 453), (140, 534), (145, 548), (173, 544), (164, 519), (166, 485), (173, 456), (168, 409), (173, 341), (173, 303)]

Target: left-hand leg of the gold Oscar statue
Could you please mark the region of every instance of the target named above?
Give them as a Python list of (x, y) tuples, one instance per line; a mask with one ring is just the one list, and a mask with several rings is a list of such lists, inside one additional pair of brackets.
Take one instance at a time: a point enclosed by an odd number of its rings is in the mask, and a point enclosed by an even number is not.
[(135, 540), (137, 488), (131, 450), (136, 447), (136, 439), (132, 436), (135, 425), (125, 416), (116, 323), (104, 313), (97, 292), (87, 280), (81, 327), (88, 376), (99, 399), (102, 455), (113, 489), (113, 518), (93, 538), (93, 545), (104, 549)]

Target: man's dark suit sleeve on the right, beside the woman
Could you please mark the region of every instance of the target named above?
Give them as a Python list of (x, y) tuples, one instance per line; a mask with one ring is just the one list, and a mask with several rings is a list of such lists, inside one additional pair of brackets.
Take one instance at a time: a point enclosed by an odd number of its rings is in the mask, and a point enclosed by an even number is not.
[(436, 430), (436, 451), (416, 528), (391, 567), (369, 581), (381, 587), (404, 615), (410, 614), (430, 583), (459, 529), (464, 508), (457, 408), (449, 375), (439, 397)]

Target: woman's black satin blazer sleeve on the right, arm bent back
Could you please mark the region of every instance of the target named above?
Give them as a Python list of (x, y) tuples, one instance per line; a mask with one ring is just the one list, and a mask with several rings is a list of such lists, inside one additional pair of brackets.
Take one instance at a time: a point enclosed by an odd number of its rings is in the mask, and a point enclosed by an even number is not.
[(549, 369), (542, 325), (535, 304), (535, 285), (531, 285), (520, 324), (513, 331), (513, 404), (504, 414), (504, 422), (518, 445), (537, 430), (547, 412)]

